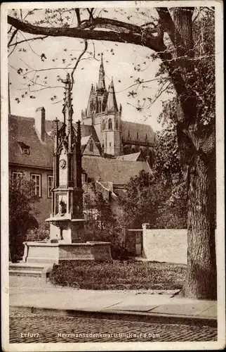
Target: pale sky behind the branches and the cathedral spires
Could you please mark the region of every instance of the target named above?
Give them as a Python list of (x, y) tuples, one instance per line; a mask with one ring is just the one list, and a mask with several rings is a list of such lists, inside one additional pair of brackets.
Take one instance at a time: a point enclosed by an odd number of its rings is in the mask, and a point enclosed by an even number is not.
[[(24, 35), (26, 38), (32, 37), (29, 34)], [(24, 38), (18, 37), (18, 40), (22, 39)], [(95, 58), (93, 58), (94, 47)], [(18, 45), (8, 58), (11, 113), (32, 117), (36, 108), (44, 106), (46, 119), (53, 120), (58, 117), (62, 120), (64, 89), (58, 76), (62, 79), (66, 77), (67, 70), (65, 68), (73, 67), (75, 63), (73, 58), (78, 58), (83, 48), (84, 42), (81, 39), (67, 37), (48, 37), (44, 40)], [(147, 99), (147, 97), (153, 99), (158, 92), (158, 84), (154, 79), (160, 61), (151, 61), (147, 58), (152, 54), (152, 51), (133, 44), (99, 41), (88, 41), (87, 51), (91, 54), (86, 54), (86, 57), (83, 57), (74, 73), (74, 121), (81, 119), (81, 110), (87, 106), (91, 84), (98, 82), (100, 54), (103, 53), (106, 87), (113, 77), (117, 103), (122, 105), (122, 119), (149, 124), (154, 131), (161, 130), (157, 117), (161, 113), (161, 101), (168, 99), (166, 94), (163, 94), (149, 109), (138, 111), (135, 108), (138, 99), (142, 104), (145, 102), (143, 99)], [(135, 68), (140, 68), (140, 71)], [(18, 75), (20, 69), (22, 71)], [(34, 70), (39, 70), (39, 72)], [(146, 88), (143, 89), (138, 86), (131, 87), (134, 80), (138, 78), (154, 81), (145, 84)], [(27, 84), (31, 84), (29, 87), (31, 92), (28, 92)], [(131, 90), (138, 94), (138, 98), (128, 96), (128, 92)]]

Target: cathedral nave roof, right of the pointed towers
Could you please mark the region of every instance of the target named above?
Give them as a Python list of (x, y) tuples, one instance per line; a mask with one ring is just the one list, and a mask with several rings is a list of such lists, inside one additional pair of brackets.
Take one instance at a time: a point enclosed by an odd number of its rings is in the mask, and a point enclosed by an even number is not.
[(137, 141), (139, 137), (140, 142), (145, 142), (147, 134), (148, 142), (154, 144), (155, 133), (150, 125), (121, 120), (121, 134), (124, 141), (128, 141), (128, 132), (131, 141)]

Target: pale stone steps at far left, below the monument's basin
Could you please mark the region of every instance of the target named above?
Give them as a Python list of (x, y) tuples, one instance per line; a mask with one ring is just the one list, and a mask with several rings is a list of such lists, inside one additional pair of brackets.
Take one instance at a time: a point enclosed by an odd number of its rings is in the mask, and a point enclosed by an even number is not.
[(10, 276), (48, 277), (51, 265), (45, 263), (10, 263)]

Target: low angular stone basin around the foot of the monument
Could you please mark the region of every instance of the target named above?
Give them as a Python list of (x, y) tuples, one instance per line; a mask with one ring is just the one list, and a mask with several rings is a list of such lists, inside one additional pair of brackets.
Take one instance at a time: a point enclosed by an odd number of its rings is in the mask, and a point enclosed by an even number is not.
[(63, 260), (111, 261), (110, 242), (50, 243), (23, 242), (23, 262), (59, 264)]

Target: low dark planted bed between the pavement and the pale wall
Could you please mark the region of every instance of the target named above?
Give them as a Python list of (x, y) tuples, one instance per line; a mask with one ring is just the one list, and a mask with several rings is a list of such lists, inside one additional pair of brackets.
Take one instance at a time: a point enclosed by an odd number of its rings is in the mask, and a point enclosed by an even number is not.
[(55, 265), (53, 284), (80, 289), (177, 289), (187, 265), (113, 260), (112, 263), (65, 261)]

